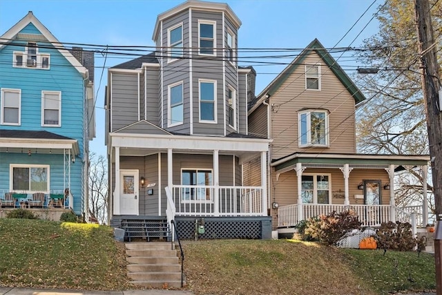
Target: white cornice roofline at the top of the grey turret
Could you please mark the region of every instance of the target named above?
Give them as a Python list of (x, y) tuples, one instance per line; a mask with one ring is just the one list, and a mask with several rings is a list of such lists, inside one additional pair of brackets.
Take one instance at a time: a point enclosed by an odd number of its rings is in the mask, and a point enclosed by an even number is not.
[(220, 10), (226, 11), (227, 15), (230, 17), (230, 19), (233, 21), (233, 24), (235, 24), (237, 28), (240, 28), (242, 24), (236, 13), (233, 12), (229, 4), (227, 3), (188, 0), (178, 6), (175, 6), (174, 8), (166, 10), (166, 12), (163, 12), (157, 16), (157, 21), (155, 22), (155, 29), (153, 30), (153, 35), (152, 35), (153, 41), (155, 41), (155, 39), (157, 38), (160, 21), (163, 21), (164, 19), (172, 17), (173, 15), (176, 15), (177, 13), (180, 13), (183, 10), (190, 8), (196, 8), (196, 9), (201, 8), (203, 10), (211, 10), (211, 11), (220, 11)]

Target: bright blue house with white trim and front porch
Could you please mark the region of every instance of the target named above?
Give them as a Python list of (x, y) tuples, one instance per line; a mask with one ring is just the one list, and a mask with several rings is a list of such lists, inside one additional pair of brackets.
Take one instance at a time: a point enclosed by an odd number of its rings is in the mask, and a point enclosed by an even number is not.
[(32, 12), (1, 35), (2, 207), (87, 217), (93, 66), (92, 52), (64, 47)]

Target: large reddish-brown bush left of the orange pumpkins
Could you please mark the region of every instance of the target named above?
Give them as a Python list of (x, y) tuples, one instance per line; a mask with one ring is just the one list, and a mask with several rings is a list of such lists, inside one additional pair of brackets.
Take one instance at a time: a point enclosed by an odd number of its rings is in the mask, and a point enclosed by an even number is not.
[(359, 228), (361, 228), (361, 222), (354, 211), (346, 210), (340, 213), (333, 211), (329, 215), (310, 218), (305, 227), (304, 236), (311, 237), (325, 245), (336, 245), (336, 242), (349, 231)]

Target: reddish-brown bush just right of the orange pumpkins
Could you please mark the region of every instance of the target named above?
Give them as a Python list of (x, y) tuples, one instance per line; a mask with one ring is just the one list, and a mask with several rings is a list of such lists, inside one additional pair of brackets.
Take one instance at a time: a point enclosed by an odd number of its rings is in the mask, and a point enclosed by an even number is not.
[(412, 251), (416, 246), (416, 238), (412, 234), (412, 225), (409, 222), (396, 223), (382, 222), (376, 231), (376, 241), (379, 249), (391, 249), (395, 251)]

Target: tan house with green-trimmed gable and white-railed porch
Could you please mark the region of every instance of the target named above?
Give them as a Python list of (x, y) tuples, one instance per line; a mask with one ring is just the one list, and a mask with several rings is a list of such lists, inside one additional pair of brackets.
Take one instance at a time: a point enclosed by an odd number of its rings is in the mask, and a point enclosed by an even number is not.
[[(425, 225), (426, 196), (417, 207), (396, 207), (394, 175), (417, 167), (426, 180), (430, 158), (357, 153), (355, 111), (365, 99), (315, 39), (251, 103), (249, 134), (273, 140), (268, 171), (273, 229), (348, 207), (363, 225), (388, 220)], [(259, 185), (257, 164), (244, 169), (245, 183)]]

